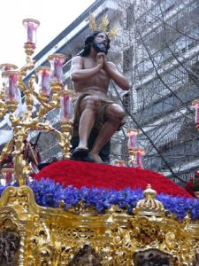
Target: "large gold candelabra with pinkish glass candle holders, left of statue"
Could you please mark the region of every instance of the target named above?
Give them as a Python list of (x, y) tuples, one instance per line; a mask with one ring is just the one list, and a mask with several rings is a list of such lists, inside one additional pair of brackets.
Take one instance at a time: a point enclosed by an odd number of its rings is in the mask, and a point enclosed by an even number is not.
[[(68, 90), (64, 85), (63, 65), (65, 55), (53, 54), (49, 56), (50, 67), (41, 66), (35, 69), (29, 81), (28, 71), (34, 70), (34, 60), (32, 56), (35, 50), (36, 29), (39, 26), (37, 20), (23, 20), (27, 30), (27, 42), (24, 44), (27, 55), (27, 63), (21, 69), (12, 64), (2, 64), (3, 86), (0, 89), (0, 117), (9, 113), (13, 137), (4, 146), (0, 155), (1, 166), (4, 158), (11, 154), (14, 163), (14, 177), (19, 181), (19, 185), (26, 184), (27, 176), (31, 171), (31, 166), (23, 158), (23, 150), (29, 131), (38, 130), (43, 132), (54, 131), (57, 134), (60, 147), (63, 148), (64, 158), (70, 157), (70, 140), (72, 121), (72, 98), (73, 90)], [(36, 76), (38, 82), (36, 82)], [(25, 97), (26, 111), (17, 115), (16, 110), (21, 106), (21, 92)], [(34, 113), (34, 99), (39, 102), (38, 113)], [(60, 110), (60, 124), (62, 131), (55, 129), (49, 121), (45, 121), (46, 114), (53, 109)]]

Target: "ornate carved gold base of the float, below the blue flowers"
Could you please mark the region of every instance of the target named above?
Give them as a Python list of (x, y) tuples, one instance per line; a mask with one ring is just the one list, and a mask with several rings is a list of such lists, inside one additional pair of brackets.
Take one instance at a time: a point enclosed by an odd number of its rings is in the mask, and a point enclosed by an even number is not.
[(0, 201), (0, 265), (191, 266), (198, 248), (199, 223), (166, 216), (151, 193), (132, 215), (40, 207), (27, 186), (8, 187)]

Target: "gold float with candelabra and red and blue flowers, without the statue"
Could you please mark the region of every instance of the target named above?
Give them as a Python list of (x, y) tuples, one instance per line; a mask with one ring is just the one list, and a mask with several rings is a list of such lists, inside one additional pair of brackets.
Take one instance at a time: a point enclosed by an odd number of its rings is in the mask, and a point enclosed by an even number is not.
[[(23, 23), (26, 66), (1, 65), (0, 115), (9, 112), (13, 137), (0, 157), (2, 175), (12, 175), (11, 184), (7, 179), (0, 187), (0, 265), (198, 265), (197, 199), (143, 168), (69, 160), (73, 91), (63, 85), (65, 56), (50, 55), (51, 67), (35, 70), (39, 90), (34, 74), (25, 84), (34, 69), (39, 22)], [(27, 109), (17, 115), (21, 92)], [(60, 108), (60, 130), (45, 119), (55, 108)], [(34, 177), (33, 160), (24, 155), (30, 131), (55, 132), (64, 154)], [(134, 132), (129, 131), (132, 143)], [(143, 151), (130, 145), (130, 164), (136, 153), (141, 158)], [(12, 168), (4, 164), (9, 155)]]

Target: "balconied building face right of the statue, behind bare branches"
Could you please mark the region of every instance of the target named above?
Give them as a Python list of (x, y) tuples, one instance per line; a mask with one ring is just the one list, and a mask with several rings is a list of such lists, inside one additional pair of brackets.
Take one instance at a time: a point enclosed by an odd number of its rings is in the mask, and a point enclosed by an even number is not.
[[(141, 129), (145, 167), (188, 181), (198, 169), (198, 131), (192, 101), (198, 98), (198, 1), (127, 1), (125, 54), (133, 90), (133, 125)], [(129, 10), (131, 16), (129, 17)], [(129, 52), (129, 49), (131, 51)], [(124, 58), (125, 59), (125, 58)], [(180, 177), (180, 179), (178, 179)]]

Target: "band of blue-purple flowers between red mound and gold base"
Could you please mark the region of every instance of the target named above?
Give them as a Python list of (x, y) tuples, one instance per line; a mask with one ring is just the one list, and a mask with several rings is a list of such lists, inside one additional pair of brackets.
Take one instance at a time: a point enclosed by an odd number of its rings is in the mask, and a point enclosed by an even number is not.
[[(121, 191), (95, 187), (77, 189), (73, 185), (64, 188), (62, 184), (54, 183), (46, 178), (40, 181), (34, 180), (32, 183), (27, 183), (27, 185), (33, 190), (36, 203), (43, 207), (58, 207), (59, 201), (64, 200), (65, 209), (67, 209), (75, 207), (79, 201), (83, 201), (86, 207), (96, 207), (100, 213), (109, 209), (111, 205), (118, 205), (132, 214), (132, 209), (137, 202), (143, 199), (141, 189), (126, 188)], [(0, 195), (7, 186), (0, 185)], [(165, 193), (159, 194), (157, 200), (161, 201), (165, 209), (179, 219), (184, 218), (188, 212), (193, 220), (199, 219), (199, 200), (172, 197)]]

